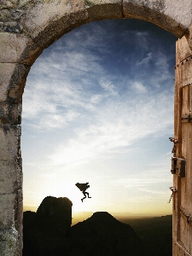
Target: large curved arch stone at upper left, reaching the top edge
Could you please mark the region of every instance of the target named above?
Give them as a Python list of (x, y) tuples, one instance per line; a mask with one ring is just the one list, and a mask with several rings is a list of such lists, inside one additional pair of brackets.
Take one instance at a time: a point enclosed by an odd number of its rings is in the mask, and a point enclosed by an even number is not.
[(20, 26), (38, 46), (45, 48), (74, 27), (91, 21), (84, 5), (84, 0), (37, 2), (22, 16)]

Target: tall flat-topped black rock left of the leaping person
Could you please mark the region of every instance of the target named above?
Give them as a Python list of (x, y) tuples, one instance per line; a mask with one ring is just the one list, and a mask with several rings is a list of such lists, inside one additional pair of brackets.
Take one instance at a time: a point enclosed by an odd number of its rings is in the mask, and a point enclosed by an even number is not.
[(36, 212), (23, 214), (23, 256), (64, 256), (71, 247), (72, 202), (47, 196)]

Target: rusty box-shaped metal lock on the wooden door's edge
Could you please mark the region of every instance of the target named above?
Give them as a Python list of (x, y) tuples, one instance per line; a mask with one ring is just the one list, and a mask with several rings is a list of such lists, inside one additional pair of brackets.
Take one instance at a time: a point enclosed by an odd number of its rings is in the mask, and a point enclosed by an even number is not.
[(176, 174), (179, 177), (185, 177), (185, 164), (186, 160), (183, 158), (172, 157), (172, 174)]

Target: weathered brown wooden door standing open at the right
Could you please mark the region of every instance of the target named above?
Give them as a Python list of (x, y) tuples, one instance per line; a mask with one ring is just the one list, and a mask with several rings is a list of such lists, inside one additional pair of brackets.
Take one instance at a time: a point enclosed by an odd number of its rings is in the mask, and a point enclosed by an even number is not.
[(185, 37), (176, 44), (174, 105), (177, 143), (173, 160), (177, 167), (173, 172), (176, 192), (173, 192), (172, 207), (172, 255), (189, 256), (192, 255), (192, 51)]

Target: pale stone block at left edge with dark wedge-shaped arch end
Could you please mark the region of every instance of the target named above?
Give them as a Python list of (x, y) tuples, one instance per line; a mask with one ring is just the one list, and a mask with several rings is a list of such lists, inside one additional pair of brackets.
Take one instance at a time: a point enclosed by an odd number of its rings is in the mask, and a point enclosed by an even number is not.
[(31, 38), (23, 34), (0, 33), (0, 45), (0, 62), (2, 63), (32, 64), (42, 52), (42, 49), (35, 45)]

